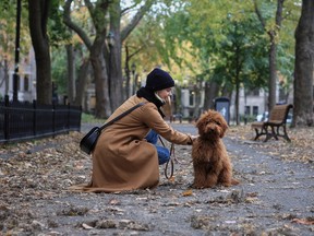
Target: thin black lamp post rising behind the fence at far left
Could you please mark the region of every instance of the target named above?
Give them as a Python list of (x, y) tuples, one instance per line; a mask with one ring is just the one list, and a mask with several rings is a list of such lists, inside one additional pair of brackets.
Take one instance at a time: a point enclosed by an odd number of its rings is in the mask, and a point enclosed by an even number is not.
[(16, 33), (15, 33), (15, 66), (13, 74), (13, 101), (17, 102), (19, 88), (19, 61), (20, 61), (20, 27), (21, 27), (21, 0), (16, 2)]

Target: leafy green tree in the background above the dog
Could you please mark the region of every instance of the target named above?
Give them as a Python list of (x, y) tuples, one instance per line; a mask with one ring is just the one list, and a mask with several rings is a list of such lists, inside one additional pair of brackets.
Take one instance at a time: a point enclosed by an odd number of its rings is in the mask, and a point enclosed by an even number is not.
[[(188, 66), (194, 73), (191, 76), (194, 81), (190, 83), (195, 83), (196, 78), (205, 81), (205, 109), (213, 105), (216, 96), (230, 97), (235, 92), (234, 114), (239, 123), (240, 87), (265, 85), (266, 40), (258, 27), (259, 22), (247, 3), (226, 11), (220, 1), (191, 2), (165, 24), (165, 40), (171, 43), (169, 55), (182, 68)], [(225, 3), (231, 4), (230, 1)], [(184, 48), (193, 58), (186, 61), (188, 57), (182, 58), (178, 48)]]

